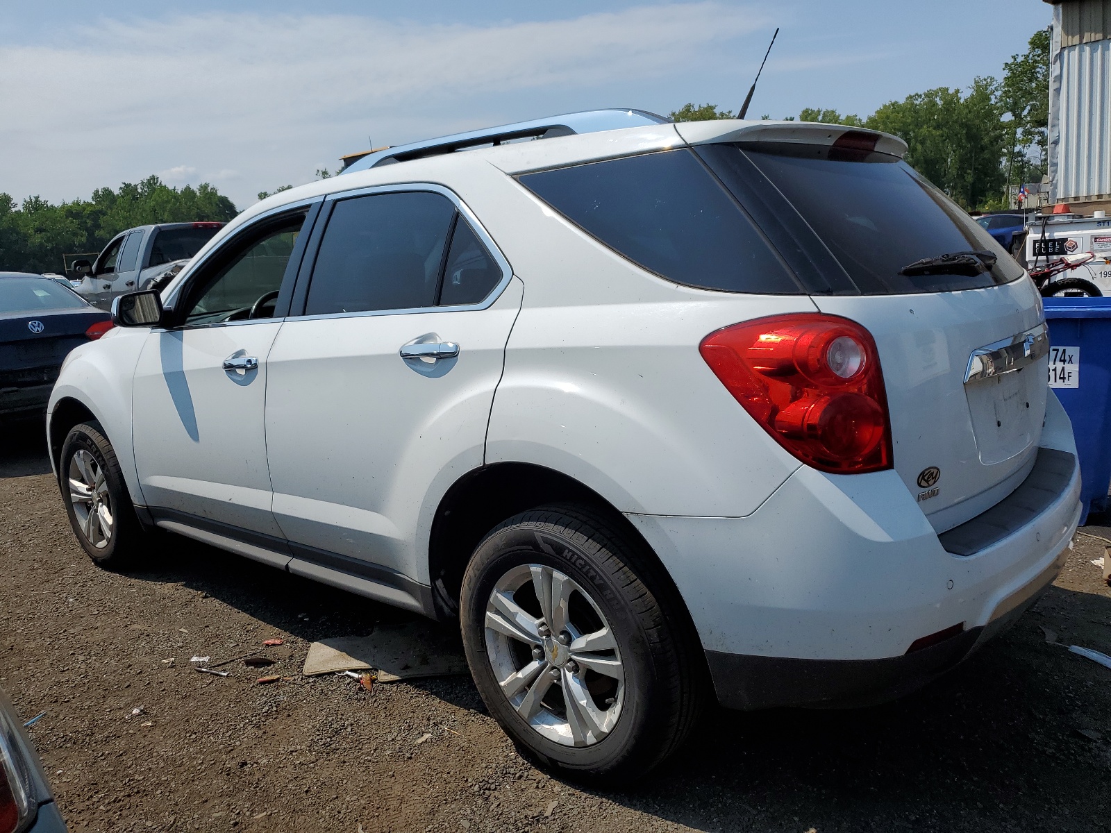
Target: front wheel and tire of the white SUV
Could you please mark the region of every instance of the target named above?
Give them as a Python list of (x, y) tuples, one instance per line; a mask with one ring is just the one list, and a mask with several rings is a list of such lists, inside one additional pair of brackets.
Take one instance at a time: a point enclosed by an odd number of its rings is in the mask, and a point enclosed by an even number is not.
[(73, 534), (89, 558), (109, 570), (134, 563), (146, 534), (99, 422), (82, 422), (67, 434), (58, 484)]

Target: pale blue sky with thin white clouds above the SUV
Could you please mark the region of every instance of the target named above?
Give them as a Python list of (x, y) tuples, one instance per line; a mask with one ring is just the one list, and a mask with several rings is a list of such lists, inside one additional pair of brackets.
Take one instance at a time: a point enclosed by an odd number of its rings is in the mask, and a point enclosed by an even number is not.
[(0, 192), (152, 173), (240, 208), (344, 153), (575, 110), (867, 116), (1002, 74), (1042, 0), (0, 0)]

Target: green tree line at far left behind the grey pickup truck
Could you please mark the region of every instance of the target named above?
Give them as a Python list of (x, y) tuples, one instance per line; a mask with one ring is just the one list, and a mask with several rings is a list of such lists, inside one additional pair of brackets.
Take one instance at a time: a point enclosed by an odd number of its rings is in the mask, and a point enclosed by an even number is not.
[(41, 197), (17, 205), (0, 193), (0, 270), (57, 272), (64, 268), (62, 254), (100, 251), (133, 225), (227, 221), (237, 213), (231, 200), (208, 183), (179, 190), (158, 177), (124, 182), (117, 191), (98, 188), (90, 200), (58, 205)]

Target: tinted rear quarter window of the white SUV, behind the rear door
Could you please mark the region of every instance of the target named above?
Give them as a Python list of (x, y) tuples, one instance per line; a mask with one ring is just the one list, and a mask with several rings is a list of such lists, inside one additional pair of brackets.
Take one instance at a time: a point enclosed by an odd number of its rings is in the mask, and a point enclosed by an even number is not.
[(690, 287), (798, 293), (755, 227), (687, 150), (528, 173), (520, 181), (601, 242)]

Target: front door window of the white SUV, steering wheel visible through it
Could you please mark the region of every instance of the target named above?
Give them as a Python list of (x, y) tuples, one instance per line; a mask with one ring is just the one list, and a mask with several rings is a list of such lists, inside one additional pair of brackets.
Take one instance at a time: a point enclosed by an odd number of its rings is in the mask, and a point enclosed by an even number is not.
[(232, 243), (222, 265), (203, 281), (203, 289), (190, 293), (182, 323), (210, 324), (223, 321), (273, 318), (278, 292), (304, 214), (268, 224)]

